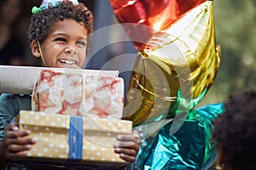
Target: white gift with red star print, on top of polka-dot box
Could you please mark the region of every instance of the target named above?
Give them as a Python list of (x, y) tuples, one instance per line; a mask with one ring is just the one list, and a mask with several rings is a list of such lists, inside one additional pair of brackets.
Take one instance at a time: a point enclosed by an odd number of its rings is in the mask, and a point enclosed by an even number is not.
[(120, 119), (124, 107), (124, 81), (113, 75), (108, 77), (108, 72), (92, 75), (41, 71), (32, 93), (32, 110)]

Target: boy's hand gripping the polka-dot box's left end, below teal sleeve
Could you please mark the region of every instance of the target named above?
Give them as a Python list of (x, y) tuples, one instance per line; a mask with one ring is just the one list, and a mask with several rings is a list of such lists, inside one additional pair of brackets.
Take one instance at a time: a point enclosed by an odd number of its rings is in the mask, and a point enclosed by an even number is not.
[(20, 131), (14, 122), (10, 123), (1, 142), (1, 156), (5, 156), (6, 161), (26, 156), (27, 150), (36, 143), (35, 139), (27, 138), (30, 133), (29, 130)]

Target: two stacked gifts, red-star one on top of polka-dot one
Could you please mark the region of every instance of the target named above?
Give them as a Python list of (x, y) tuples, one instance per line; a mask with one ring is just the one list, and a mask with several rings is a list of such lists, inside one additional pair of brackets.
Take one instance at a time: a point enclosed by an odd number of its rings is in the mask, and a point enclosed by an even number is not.
[(121, 120), (124, 81), (118, 71), (43, 70), (32, 90), (32, 111), (20, 111), (15, 122), (32, 131), (37, 143), (26, 161), (53, 165), (119, 166), (114, 153), (117, 134), (131, 133), (132, 122)]

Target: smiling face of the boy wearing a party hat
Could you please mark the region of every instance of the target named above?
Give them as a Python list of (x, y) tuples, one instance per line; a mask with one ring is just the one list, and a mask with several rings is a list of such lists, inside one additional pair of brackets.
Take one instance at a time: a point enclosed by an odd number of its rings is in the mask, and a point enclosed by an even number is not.
[[(49, 30), (41, 44), (44, 61), (42, 66), (58, 68), (82, 68), (86, 58), (87, 29), (72, 19), (58, 21)], [(32, 50), (33, 53), (33, 50)], [(40, 57), (37, 52), (33, 55)]]

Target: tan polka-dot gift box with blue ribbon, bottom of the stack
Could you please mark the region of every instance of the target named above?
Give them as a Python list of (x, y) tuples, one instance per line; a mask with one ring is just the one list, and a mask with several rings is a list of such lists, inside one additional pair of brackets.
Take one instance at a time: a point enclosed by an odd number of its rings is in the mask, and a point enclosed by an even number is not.
[(34, 111), (20, 111), (15, 121), (21, 130), (32, 131), (29, 138), (37, 139), (20, 161), (101, 166), (127, 163), (114, 153), (113, 144), (117, 143), (118, 134), (131, 133), (130, 121)]

